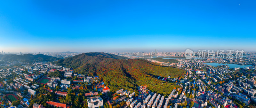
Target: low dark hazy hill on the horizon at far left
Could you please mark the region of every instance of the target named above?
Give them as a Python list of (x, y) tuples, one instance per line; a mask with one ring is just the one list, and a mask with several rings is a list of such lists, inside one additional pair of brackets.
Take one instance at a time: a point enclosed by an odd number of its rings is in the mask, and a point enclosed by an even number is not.
[(4, 61), (21, 61), (21, 62), (42, 62), (42, 61), (52, 61), (52, 60), (59, 60), (60, 58), (55, 58), (52, 56), (46, 56), (43, 54), (23, 54), (23, 55), (16, 55), (16, 54), (0, 54), (0, 59)]

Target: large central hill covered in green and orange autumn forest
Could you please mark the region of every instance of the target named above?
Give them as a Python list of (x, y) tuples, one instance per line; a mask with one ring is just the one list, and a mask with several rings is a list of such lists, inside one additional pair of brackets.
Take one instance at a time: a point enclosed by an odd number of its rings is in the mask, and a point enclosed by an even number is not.
[(88, 56), (80, 54), (74, 57), (61, 59), (56, 65), (75, 68), (74, 73), (98, 75), (111, 88), (137, 89), (138, 85), (148, 86), (148, 89), (169, 95), (175, 83), (158, 80), (158, 76), (171, 78), (180, 77), (185, 70), (161, 66), (159, 64), (139, 59), (113, 59), (104, 56)]

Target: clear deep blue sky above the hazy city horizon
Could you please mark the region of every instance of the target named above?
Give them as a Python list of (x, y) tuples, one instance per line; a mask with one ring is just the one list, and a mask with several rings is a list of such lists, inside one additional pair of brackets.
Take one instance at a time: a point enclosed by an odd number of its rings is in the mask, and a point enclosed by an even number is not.
[(0, 40), (6, 52), (256, 50), (256, 1), (2, 0)]

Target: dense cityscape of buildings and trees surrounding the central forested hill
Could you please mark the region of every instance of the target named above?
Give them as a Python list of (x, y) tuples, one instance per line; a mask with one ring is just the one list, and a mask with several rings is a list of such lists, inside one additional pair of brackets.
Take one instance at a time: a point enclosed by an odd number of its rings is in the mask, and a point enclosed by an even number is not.
[[(159, 66), (185, 70), (176, 77), (171, 74), (167, 77), (155, 76), (159, 81), (175, 85), (174, 88), (169, 88), (170, 92), (163, 91), (166, 93), (154, 92), (147, 85), (137, 86), (136, 89), (122, 85), (111, 88), (111, 83), (106, 82), (103, 75), (80, 74), (71, 66), (54, 64), (60, 58), (41, 62), (23, 62), (22, 58), (17, 61), (6, 61), (2, 58), (4, 62), (0, 65), (1, 106), (19, 108), (251, 107), (256, 102), (256, 62), (253, 56), (255, 52), (245, 53), (249, 56), (238, 59), (163, 59), (164, 57), (159, 57), (161, 59), (156, 60), (147, 56), (138, 58), (136, 55), (138, 53), (129, 53), (127, 59), (147, 60)], [(100, 52), (99, 54), (112, 56), (110, 53)], [(114, 54), (118, 56), (118, 53)]]

